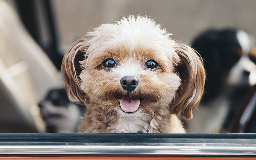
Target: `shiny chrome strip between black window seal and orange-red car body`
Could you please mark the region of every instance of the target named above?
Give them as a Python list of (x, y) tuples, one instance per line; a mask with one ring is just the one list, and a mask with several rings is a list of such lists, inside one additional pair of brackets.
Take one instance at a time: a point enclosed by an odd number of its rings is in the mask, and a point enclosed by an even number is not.
[(2, 155), (256, 155), (255, 144), (220, 146), (22, 145), (0, 146)]

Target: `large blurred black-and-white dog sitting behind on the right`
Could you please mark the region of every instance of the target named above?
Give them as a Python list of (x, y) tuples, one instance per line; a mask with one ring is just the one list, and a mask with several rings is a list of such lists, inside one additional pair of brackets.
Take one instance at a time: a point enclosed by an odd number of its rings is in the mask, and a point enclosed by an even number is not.
[(189, 130), (230, 132), (232, 125), (237, 125), (233, 124), (234, 117), (255, 84), (255, 37), (242, 29), (212, 28), (197, 35), (191, 46), (205, 61), (207, 80), (200, 113), (194, 113), (196, 118), (188, 122)]

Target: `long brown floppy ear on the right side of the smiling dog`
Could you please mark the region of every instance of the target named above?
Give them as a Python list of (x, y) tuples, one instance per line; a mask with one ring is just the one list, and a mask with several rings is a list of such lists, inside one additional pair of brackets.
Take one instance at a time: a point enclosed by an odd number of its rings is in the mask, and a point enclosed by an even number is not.
[(180, 58), (176, 71), (181, 85), (171, 104), (171, 113), (180, 113), (185, 119), (191, 119), (192, 111), (198, 106), (204, 92), (205, 69), (202, 58), (191, 47), (176, 44), (174, 50)]

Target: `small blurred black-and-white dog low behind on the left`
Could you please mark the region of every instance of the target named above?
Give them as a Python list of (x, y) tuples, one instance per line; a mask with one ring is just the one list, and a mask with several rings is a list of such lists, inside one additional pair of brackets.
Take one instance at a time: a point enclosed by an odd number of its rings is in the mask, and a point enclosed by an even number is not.
[(76, 133), (85, 106), (71, 103), (65, 88), (51, 89), (38, 104), (46, 133)]

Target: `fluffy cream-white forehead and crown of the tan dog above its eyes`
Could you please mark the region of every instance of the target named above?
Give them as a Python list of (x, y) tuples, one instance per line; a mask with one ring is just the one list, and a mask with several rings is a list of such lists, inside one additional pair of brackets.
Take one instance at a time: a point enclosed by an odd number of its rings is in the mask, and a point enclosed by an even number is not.
[[(145, 17), (122, 19), (115, 24), (102, 24), (90, 36), (88, 52), (98, 61), (116, 57), (122, 61), (134, 58), (172, 60), (174, 41), (159, 24)], [(101, 57), (100, 57), (101, 56)]]

